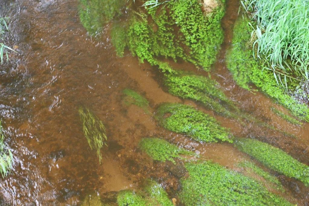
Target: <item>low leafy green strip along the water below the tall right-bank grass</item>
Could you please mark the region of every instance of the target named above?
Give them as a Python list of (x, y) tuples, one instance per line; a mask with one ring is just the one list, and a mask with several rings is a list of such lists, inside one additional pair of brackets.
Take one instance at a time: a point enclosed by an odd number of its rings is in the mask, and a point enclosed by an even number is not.
[(261, 61), (253, 57), (250, 21), (247, 17), (239, 17), (234, 26), (232, 47), (227, 53), (227, 67), (239, 86), (250, 89), (254, 83), (264, 93), (276, 99), (288, 108), (300, 120), (309, 121), (309, 108), (306, 104), (287, 94), (285, 88), (277, 84), (272, 71), (264, 69)]

